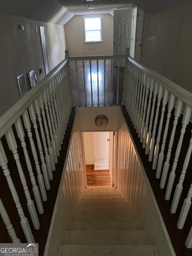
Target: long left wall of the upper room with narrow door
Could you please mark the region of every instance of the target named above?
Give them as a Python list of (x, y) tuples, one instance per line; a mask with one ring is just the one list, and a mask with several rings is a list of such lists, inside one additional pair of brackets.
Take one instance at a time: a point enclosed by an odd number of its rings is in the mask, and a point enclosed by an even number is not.
[[(21, 24), (24, 31), (19, 28)], [(0, 14), (0, 116), (20, 99), (17, 76), (30, 70), (35, 71), (38, 81), (45, 76), (39, 26), (45, 27), (48, 61), (52, 70), (65, 56), (64, 27)], [(43, 71), (40, 76), (38, 68)]]

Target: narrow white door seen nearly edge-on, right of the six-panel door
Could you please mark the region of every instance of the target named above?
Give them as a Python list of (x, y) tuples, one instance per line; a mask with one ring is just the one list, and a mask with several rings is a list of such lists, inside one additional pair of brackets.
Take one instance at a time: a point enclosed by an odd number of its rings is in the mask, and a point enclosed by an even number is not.
[(143, 37), (143, 20), (144, 10), (137, 9), (137, 25), (136, 25), (136, 44), (135, 44), (135, 60), (141, 60), (142, 37)]

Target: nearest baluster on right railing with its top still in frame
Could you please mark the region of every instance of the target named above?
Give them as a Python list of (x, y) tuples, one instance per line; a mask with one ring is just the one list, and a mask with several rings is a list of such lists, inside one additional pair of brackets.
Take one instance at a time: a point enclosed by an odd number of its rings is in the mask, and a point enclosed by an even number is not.
[(179, 158), (180, 152), (181, 152), (183, 137), (184, 137), (184, 134), (185, 134), (186, 126), (189, 123), (190, 116), (191, 116), (191, 108), (189, 106), (186, 106), (185, 112), (184, 112), (184, 115), (183, 115), (183, 119), (182, 119), (182, 128), (181, 128), (181, 132), (180, 132), (180, 138), (179, 138), (179, 142), (178, 142), (178, 145), (177, 145), (177, 149), (176, 149), (176, 153), (175, 153), (175, 157), (174, 157), (174, 162), (173, 162), (173, 165), (172, 165), (172, 170), (170, 172), (169, 180), (168, 180), (168, 184), (167, 184), (167, 188), (166, 188), (166, 193), (165, 193), (165, 199), (166, 200), (169, 200), (170, 196), (171, 196), (171, 191), (172, 191), (173, 183), (174, 183), (174, 180), (175, 180), (175, 170), (177, 168), (177, 162), (178, 162), (178, 158)]

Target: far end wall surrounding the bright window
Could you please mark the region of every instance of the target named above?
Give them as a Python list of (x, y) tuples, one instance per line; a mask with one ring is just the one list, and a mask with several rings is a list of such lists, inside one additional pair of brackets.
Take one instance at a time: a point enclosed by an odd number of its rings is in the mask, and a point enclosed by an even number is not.
[(65, 24), (66, 47), (70, 56), (113, 54), (113, 16), (111, 14), (101, 14), (101, 16), (102, 42), (84, 42), (83, 15), (75, 15)]

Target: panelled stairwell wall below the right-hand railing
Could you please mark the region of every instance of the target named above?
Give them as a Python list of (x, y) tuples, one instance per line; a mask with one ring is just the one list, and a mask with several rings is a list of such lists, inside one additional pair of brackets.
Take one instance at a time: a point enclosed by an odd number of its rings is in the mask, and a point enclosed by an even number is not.
[(115, 186), (146, 230), (150, 244), (154, 244), (159, 256), (176, 256), (171, 244), (150, 182), (128, 126), (122, 117), (118, 131), (118, 160)]

